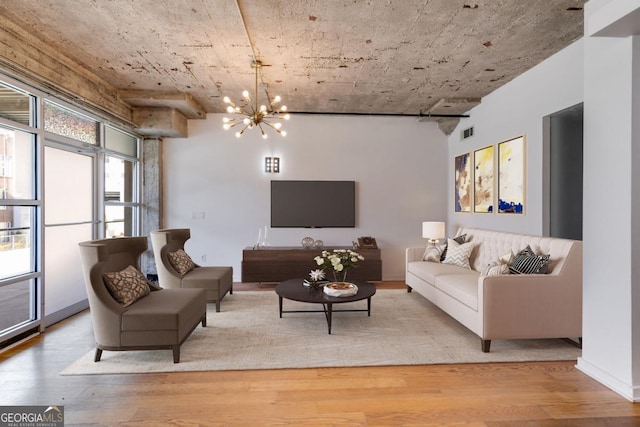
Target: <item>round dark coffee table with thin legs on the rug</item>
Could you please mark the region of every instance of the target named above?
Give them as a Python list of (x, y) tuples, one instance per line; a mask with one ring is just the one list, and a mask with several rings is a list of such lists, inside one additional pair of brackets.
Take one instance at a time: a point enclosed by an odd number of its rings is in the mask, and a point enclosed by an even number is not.
[[(280, 282), (276, 286), (276, 293), (278, 294), (278, 303), (280, 306), (280, 317), (282, 313), (324, 313), (327, 318), (327, 327), (329, 333), (331, 333), (331, 318), (334, 312), (340, 311), (366, 311), (368, 316), (371, 316), (371, 297), (376, 293), (376, 287), (371, 283), (353, 281), (352, 283), (358, 287), (358, 292), (355, 295), (347, 297), (331, 297), (324, 293), (322, 287), (311, 288), (302, 284), (303, 279), (290, 279)], [(322, 304), (322, 310), (283, 310), (282, 301), (288, 299), (292, 301), (308, 302), (311, 304)], [(366, 309), (352, 309), (352, 310), (334, 310), (333, 304), (344, 304), (347, 302), (367, 300)]]

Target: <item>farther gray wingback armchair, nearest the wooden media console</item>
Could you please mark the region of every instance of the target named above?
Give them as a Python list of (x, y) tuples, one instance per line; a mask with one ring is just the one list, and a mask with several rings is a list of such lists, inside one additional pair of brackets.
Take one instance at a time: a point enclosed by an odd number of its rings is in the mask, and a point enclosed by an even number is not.
[(233, 294), (232, 267), (202, 267), (194, 263), (193, 269), (180, 274), (169, 260), (170, 254), (179, 249), (184, 251), (184, 244), (191, 237), (188, 228), (156, 230), (151, 232), (153, 257), (158, 269), (158, 280), (163, 288), (204, 288), (207, 300), (216, 303), (216, 311), (220, 311), (220, 301), (227, 294)]

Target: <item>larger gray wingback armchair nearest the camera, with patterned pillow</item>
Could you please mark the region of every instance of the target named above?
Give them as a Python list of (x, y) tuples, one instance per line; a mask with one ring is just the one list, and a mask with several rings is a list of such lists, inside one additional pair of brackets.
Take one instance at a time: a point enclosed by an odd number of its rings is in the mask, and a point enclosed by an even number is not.
[(96, 340), (95, 362), (103, 350), (173, 350), (180, 361), (180, 346), (191, 332), (207, 322), (207, 299), (202, 289), (160, 289), (130, 305), (116, 301), (107, 288), (105, 273), (139, 269), (146, 237), (123, 237), (82, 242), (80, 256)]

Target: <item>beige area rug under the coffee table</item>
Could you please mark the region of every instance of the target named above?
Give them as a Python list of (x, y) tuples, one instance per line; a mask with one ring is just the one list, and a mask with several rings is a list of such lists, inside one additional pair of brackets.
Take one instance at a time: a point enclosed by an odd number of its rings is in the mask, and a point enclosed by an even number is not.
[[(320, 306), (284, 300), (285, 310)], [(366, 301), (334, 305), (366, 308)], [(490, 353), (480, 339), (416, 292), (378, 290), (366, 312), (333, 315), (327, 333), (323, 313), (278, 316), (274, 291), (228, 295), (222, 311), (209, 305), (207, 327), (198, 326), (182, 345), (180, 363), (170, 350), (105, 351), (93, 362), (91, 350), (61, 375), (283, 369), (310, 367), (576, 360), (581, 350), (559, 339), (497, 340)]]

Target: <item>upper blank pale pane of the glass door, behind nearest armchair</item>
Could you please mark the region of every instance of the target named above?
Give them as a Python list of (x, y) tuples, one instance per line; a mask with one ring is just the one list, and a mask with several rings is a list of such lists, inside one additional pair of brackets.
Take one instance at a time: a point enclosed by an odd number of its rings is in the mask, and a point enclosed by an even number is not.
[(93, 219), (93, 158), (45, 147), (45, 225)]

